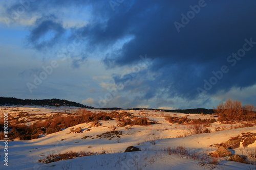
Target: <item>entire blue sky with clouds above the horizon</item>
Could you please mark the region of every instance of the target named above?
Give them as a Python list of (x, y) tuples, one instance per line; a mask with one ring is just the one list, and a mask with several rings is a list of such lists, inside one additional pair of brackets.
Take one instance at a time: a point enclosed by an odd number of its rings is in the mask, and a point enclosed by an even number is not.
[(0, 96), (256, 106), (256, 1), (0, 2)]

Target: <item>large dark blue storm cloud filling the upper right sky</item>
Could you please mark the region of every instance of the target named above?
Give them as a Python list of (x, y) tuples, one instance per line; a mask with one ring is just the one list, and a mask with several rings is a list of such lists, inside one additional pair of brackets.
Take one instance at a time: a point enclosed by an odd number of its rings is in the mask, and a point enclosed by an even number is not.
[[(169, 96), (195, 98), (198, 95), (198, 87), (204, 90), (204, 79), (209, 81), (214, 76), (212, 71), (221, 70), (223, 65), (226, 65), (229, 71), (207, 90), (208, 93), (215, 93), (220, 89), (229, 90), (233, 86), (247, 87), (256, 83), (253, 78), (256, 76), (256, 46), (246, 52), (236, 65), (231, 66), (232, 62), (227, 61), (229, 55), (243, 48), (245, 39), (252, 38), (252, 41), (256, 42), (256, 12), (253, 9), (256, 2), (205, 3), (206, 6), (201, 8), (179, 33), (174, 22), (181, 22), (181, 13), (186, 14), (191, 10), (189, 5), (197, 5), (198, 1), (180, 4), (143, 4), (140, 1), (122, 14), (122, 19), (116, 21), (129, 26), (124, 29), (135, 38), (123, 45), (120, 55), (113, 54), (114, 58), (109, 57), (112, 63), (114, 61), (113, 65), (134, 64), (140, 54), (147, 54), (153, 59), (153, 65), (148, 69), (157, 72), (158, 77), (152, 81), (145, 79), (144, 83), (141, 83), (143, 87), (150, 88), (145, 93), (145, 98), (157, 95), (162, 88)], [(112, 25), (108, 26), (109, 30), (114, 29)], [(116, 29), (116, 34), (125, 31)], [(144, 76), (138, 74), (138, 77)], [(136, 84), (130, 87), (133, 88), (136, 88)]]

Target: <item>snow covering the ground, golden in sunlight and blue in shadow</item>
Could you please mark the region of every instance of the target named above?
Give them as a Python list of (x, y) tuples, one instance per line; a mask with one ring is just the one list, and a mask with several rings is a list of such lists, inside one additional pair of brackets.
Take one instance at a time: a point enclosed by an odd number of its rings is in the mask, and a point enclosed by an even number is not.
[[(56, 114), (73, 112), (77, 108), (64, 107), (0, 107), (1, 116), (4, 112), (18, 114), (24, 112), (30, 116), (44, 116), (45, 114)], [(97, 110), (98, 111), (98, 110)], [(211, 152), (217, 148), (209, 145), (222, 143), (230, 137), (238, 136), (241, 133), (256, 133), (256, 127), (229, 129), (215, 132), (215, 128), (228, 129), (231, 125), (219, 123), (211, 124), (211, 133), (196, 134), (181, 137), (186, 134), (186, 125), (175, 125), (168, 123), (163, 116), (183, 113), (169, 113), (156, 111), (129, 111), (136, 116), (147, 116), (158, 124), (150, 126), (132, 126), (131, 129), (117, 127), (116, 120), (100, 121), (99, 127), (90, 128), (91, 123), (80, 124), (74, 128), (81, 127), (83, 133), (70, 133), (71, 128), (49, 135), (42, 135), (41, 138), (26, 141), (8, 142), (8, 166), (4, 165), (4, 141), (0, 141), (0, 169), (255, 169), (255, 165), (243, 164), (221, 159), (220, 164), (203, 164), (199, 160), (190, 159), (184, 155), (169, 155), (165, 151), (168, 147), (175, 148), (183, 146), (191, 151)], [(21, 114), (21, 113), (20, 113)], [(188, 118), (212, 118), (211, 115), (188, 114)], [(28, 116), (27, 116), (28, 117)], [(104, 132), (122, 131), (121, 137), (99, 138)], [(84, 136), (89, 136), (82, 139)], [(123, 153), (124, 150), (133, 145), (141, 149), (138, 152)], [(245, 154), (254, 151), (256, 143), (235, 149), (236, 154)], [(79, 157), (69, 160), (61, 160), (48, 164), (38, 163), (38, 159), (45, 158), (50, 154), (65, 153), (67, 151), (94, 152), (93, 156)], [(105, 152), (106, 154), (101, 154)]]

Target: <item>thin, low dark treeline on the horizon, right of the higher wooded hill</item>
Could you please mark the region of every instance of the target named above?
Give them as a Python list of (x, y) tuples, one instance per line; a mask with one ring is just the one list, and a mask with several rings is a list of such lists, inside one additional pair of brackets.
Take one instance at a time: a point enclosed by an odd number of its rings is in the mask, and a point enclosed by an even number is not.
[[(121, 108), (101, 108), (103, 110), (122, 110)], [(176, 109), (176, 110), (166, 110), (166, 109), (145, 109), (145, 108), (132, 108), (132, 109), (125, 109), (125, 110), (156, 110), (156, 111), (165, 111), (165, 112), (174, 112), (174, 113), (203, 113), (203, 114), (212, 114), (214, 110), (212, 109), (204, 109), (204, 108), (197, 108), (197, 109)]]

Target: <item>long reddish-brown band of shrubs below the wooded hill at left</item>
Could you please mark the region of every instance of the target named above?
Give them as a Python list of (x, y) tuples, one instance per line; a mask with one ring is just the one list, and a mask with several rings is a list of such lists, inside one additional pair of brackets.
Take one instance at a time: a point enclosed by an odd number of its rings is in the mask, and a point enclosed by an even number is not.
[[(76, 126), (78, 124), (90, 123), (98, 120), (114, 120), (123, 119), (123, 117), (134, 117), (132, 114), (127, 112), (91, 112), (86, 109), (78, 109), (76, 111), (78, 115), (62, 115), (54, 114), (48, 119), (37, 119), (36, 122), (30, 126), (17, 125), (18, 120), (14, 117), (9, 116), (9, 128), (11, 131), (8, 133), (9, 139), (15, 139), (19, 137), (19, 140), (31, 140), (38, 138), (40, 134), (51, 134), (61, 129)], [(138, 121), (139, 122), (139, 121)], [(139, 123), (138, 123), (139, 124)], [(4, 126), (4, 118), (0, 119), (0, 126)], [(1, 133), (0, 139), (4, 139), (4, 133)]]

